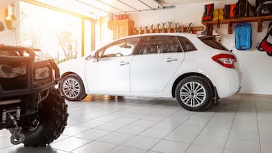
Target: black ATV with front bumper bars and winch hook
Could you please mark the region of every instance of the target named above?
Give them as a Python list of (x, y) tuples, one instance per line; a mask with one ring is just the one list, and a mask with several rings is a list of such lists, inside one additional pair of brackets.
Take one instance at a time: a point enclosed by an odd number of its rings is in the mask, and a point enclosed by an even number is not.
[(33, 48), (0, 44), (0, 130), (14, 145), (42, 147), (67, 125), (67, 105), (53, 60), (38, 60)]

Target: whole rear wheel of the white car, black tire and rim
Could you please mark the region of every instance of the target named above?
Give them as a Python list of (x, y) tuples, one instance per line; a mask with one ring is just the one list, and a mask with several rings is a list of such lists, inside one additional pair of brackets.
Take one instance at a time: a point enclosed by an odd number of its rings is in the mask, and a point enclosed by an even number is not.
[(178, 83), (175, 96), (184, 109), (203, 111), (212, 102), (212, 86), (205, 78), (189, 76)]

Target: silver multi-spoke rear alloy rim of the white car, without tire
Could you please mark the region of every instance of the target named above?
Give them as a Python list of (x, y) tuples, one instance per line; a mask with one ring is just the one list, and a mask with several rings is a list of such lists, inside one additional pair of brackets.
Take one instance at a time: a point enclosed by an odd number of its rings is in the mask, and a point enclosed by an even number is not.
[(198, 107), (205, 101), (206, 90), (198, 82), (187, 82), (180, 88), (180, 100), (189, 107)]

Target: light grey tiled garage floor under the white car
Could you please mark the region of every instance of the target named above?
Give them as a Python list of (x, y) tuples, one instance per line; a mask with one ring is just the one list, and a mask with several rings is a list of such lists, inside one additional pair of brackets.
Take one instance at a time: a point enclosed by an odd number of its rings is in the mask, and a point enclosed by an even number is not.
[(0, 131), (1, 153), (269, 153), (272, 97), (237, 94), (203, 112), (175, 99), (102, 99), (68, 102), (65, 132), (48, 147), (11, 145)]

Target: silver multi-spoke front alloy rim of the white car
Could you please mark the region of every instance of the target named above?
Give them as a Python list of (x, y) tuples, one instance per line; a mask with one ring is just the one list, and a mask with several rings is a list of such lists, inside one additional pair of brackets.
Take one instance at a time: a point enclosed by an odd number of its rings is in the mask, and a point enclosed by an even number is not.
[(63, 82), (62, 91), (67, 98), (74, 99), (80, 94), (80, 85), (78, 80), (68, 78)]

